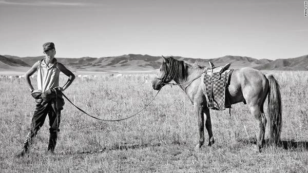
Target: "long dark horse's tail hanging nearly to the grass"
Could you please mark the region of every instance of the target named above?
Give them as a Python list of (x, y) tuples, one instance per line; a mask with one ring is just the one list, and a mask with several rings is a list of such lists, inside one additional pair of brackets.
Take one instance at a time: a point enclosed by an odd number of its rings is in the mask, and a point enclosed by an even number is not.
[(279, 146), (281, 126), (282, 126), (282, 108), (280, 87), (272, 74), (265, 75), (268, 80), (268, 123), (269, 123), (269, 145)]

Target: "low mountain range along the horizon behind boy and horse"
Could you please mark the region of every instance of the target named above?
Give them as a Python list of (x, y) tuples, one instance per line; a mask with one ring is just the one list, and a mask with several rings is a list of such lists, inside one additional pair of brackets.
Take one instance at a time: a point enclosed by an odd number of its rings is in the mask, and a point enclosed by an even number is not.
[[(0, 55), (0, 71), (26, 71), (35, 62), (43, 59), (44, 56), (18, 57), (12, 55)], [(198, 63), (201, 66), (208, 66), (208, 62), (216, 66), (223, 66), (231, 63), (231, 68), (252, 67), (259, 70), (308, 70), (308, 55), (290, 59), (254, 59), (247, 56), (226, 55), (215, 59), (194, 59), (189, 57), (174, 56), (177, 60), (188, 63)], [(56, 58), (73, 71), (100, 71), (100, 72), (121, 72), (121, 71), (152, 71), (161, 65), (161, 56), (142, 54), (126, 54), (107, 57), (80, 57), (80, 58)]]

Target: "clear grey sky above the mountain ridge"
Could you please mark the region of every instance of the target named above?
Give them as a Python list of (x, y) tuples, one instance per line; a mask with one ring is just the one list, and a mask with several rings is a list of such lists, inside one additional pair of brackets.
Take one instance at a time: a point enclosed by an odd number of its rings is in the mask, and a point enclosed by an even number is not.
[(0, 0), (0, 54), (286, 59), (308, 54), (301, 0)]

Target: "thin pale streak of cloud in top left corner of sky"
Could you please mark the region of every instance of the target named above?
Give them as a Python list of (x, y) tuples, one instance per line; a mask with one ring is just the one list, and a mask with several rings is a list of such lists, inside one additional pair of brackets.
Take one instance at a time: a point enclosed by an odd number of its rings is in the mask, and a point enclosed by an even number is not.
[(20, 0), (0, 0), (0, 4), (4, 5), (20, 5), (20, 6), (86, 6), (89, 3), (68, 2), (68, 1), (20, 1)]

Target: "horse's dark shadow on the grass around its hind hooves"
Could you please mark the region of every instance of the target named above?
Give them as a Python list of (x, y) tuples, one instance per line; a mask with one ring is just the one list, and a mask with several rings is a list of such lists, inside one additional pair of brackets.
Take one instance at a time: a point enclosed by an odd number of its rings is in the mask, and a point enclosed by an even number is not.
[[(257, 145), (257, 139), (256, 138), (250, 138), (250, 139), (239, 139), (238, 142), (245, 143), (245, 144), (253, 144)], [(265, 142), (265, 145), (268, 143), (268, 139)], [(308, 141), (280, 141), (280, 146), (283, 147), (283, 149), (287, 150), (293, 150), (293, 149), (302, 149), (302, 150), (308, 150)]]

